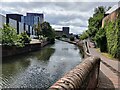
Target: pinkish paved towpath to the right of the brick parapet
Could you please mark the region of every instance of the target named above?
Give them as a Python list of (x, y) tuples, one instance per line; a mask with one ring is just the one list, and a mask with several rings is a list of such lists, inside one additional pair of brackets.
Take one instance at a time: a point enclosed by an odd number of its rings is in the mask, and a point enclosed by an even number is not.
[(90, 54), (101, 58), (97, 90), (120, 90), (120, 62), (103, 56), (89, 44)]

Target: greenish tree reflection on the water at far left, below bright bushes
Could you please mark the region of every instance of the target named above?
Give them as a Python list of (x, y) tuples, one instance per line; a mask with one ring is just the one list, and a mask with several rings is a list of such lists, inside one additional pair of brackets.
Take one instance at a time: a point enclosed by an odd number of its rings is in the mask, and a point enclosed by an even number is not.
[(11, 76), (25, 70), (30, 65), (28, 56), (13, 56), (4, 58), (2, 61), (2, 74), (5, 76)]

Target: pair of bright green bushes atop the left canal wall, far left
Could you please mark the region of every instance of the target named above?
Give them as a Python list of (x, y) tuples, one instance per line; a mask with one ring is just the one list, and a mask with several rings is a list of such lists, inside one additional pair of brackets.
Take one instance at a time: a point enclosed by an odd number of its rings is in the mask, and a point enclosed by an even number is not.
[(9, 25), (4, 24), (0, 32), (2, 45), (23, 47), (26, 43), (29, 44), (31, 40), (26, 32), (18, 35), (16, 30)]

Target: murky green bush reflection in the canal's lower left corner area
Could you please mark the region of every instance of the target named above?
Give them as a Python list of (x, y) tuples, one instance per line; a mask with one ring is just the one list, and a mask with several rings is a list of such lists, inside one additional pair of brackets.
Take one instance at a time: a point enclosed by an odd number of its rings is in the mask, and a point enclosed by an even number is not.
[[(11, 60), (12, 61), (12, 60)], [(21, 61), (14, 61), (13, 63), (4, 63), (2, 65), (2, 78), (3, 80), (7, 80), (8, 83), (9, 80), (14, 80), (13, 76), (16, 76), (18, 73), (23, 72), (28, 66), (30, 65), (30, 60), (24, 60)]]

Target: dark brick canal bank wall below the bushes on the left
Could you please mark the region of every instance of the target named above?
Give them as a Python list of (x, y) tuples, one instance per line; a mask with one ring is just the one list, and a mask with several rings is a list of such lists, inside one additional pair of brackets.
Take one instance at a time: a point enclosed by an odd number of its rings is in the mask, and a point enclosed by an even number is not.
[(37, 51), (48, 44), (50, 44), (49, 41), (44, 41), (44, 42), (34, 42), (34, 43), (26, 44), (24, 47), (5, 46), (5, 45), (4, 46), (0, 45), (0, 47), (2, 47), (2, 57), (8, 57), (8, 56), (15, 56), (32, 51)]

